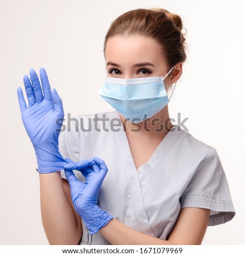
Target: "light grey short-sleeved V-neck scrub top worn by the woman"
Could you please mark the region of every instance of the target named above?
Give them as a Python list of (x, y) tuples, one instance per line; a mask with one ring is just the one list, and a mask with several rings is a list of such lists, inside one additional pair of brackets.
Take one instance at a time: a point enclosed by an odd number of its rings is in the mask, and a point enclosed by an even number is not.
[[(107, 121), (102, 123), (102, 117)], [(70, 127), (65, 125), (60, 153), (73, 161), (97, 156), (106, 162), (98, 205), (129, 227), (167, 240), (182, 208), (210, 209), (209, 226), (235, 216), (217, 151), (179, 126), (174, 125), (148, 162), (136, 169), (118, 112), (77, 115)], [(85, 182), (81, 172), (74, 173)], [(64, 170), (61, 175), (66, 179)], [(82, 224), (81, 245), (111, 245), (99, 232), (90, 235)]]

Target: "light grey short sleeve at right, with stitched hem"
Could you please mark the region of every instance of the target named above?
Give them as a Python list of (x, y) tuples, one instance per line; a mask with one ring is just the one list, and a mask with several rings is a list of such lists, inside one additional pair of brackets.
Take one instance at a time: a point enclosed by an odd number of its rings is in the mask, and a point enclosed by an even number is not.
[(215, 148), (195, 171), (180, 197), (181, 209), (197, 207), (210, 209), (209, 226), (232, 220), (236, 212), (232, 204), (228, 182)]

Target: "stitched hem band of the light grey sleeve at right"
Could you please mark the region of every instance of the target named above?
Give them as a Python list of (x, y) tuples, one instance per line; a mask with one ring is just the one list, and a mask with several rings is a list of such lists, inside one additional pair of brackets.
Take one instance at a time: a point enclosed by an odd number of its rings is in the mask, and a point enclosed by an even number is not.
[(236, 212), (230, 201), (217, 200), (204, 196), (184, 196), (180, 198), (181, 209), (197, 207), (210, 209), (209, 226), (226, 223), (234, 218)]

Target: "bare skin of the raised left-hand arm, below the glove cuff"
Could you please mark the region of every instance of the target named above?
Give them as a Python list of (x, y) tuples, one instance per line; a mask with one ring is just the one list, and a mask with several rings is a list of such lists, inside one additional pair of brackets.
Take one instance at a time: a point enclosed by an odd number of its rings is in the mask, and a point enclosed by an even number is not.
[(78, 245), (82, 220), (74, 209), (70, 186), (60, 172), (40, 173), (42, 224), (50, 245)]

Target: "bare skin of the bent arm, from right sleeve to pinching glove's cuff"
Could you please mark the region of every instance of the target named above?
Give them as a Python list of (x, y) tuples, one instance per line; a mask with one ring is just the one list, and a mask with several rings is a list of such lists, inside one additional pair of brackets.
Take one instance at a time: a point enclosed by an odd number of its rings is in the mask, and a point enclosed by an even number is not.
[(136, 231), (113, 218), (99, 233), (112, 245), (201, 245), (210, 209), (183, 208), (168, 240), (158, 239)]

